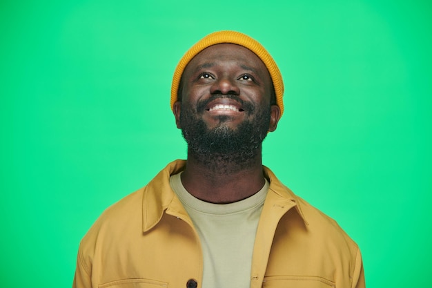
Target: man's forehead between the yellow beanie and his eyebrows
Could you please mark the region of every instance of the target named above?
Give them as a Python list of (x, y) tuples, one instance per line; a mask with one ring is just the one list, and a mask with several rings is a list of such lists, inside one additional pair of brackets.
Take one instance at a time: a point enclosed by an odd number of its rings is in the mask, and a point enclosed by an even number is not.
[(186, 66), (186, 70), (211, 64), (223, 64), (224, 61), (253, 68), (258, 73), (268, 74), (265, 64), (254, 52), (237, 44), (216, 44), (199, 52)]

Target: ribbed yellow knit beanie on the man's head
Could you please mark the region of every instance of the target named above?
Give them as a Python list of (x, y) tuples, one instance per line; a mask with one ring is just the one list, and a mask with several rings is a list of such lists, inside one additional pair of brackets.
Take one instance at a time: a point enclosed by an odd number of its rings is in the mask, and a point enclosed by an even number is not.
[(267, 50), (259, 44), (255, 39), (248, 37), (240, 32), (235, 31), (219, 31), (213, 32), (203, 39), (199, 40), (194, 46), (192, 46), (185, 55), (180, 59), (177, 68), (175, 68), (173, 84), (171, 86), (171, 109), (173, 109), (174, 103), (177, 101), (177, 93), (179, 90), (179, 84), (181, 75), (184, 69), (188, 65), (189, 61), (193, 59), (199, 52), (215, 44), (230, 43), (237, 44), (248, 48), (255, 53), (266, 65), (268, 73), (270, 73), (275, 88), (276, 104), (280, 108), (280, 115), (284, 113), (284, 82), (282, 81), (282, 75), (280, 74), (279, 68), (275, 63), (275, 60), (268, 54)]

